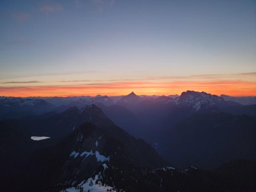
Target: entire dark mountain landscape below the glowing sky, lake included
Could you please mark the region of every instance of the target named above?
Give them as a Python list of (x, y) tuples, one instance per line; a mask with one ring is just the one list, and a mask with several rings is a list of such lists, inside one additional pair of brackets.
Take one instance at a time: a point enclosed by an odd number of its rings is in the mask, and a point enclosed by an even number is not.
[(2, 96), (2, 191), (254, 191), (249, 100)]

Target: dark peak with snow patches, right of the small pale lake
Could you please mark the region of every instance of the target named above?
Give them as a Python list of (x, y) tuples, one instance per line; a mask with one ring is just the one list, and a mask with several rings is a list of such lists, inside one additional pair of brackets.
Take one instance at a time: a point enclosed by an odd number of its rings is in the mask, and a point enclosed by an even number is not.
[(32, 184), (47, 189), (80, 183), (104, 170), (104, 164), (127, 168), (166, 165), (144, 141), (127, 140), (126, 134), (117, 138), (112, 133), (109, 129), (84, 123), (55, 146), (35, 152), (28, 163), (31, 167), (28, 175), (35, 178)]

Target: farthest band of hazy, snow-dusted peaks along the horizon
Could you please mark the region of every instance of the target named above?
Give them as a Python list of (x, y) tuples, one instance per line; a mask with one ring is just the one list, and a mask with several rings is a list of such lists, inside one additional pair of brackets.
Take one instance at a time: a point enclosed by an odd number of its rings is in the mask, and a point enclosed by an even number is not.
[[(190, 97), (190, 98), (188, 98)], [(106, 106), (111, 106), (113, 104), (118, 105), (134, 105), (139, 102), (142, 102), (144, 100), (150, 100), (150, 101), (157, 101), (163, 100), (164, 96), (147, 96), (142, 95), (138, 96), (134, 92), (131, 92), (130, 94), (126, 96), (74, 96), (74, 97), (28, 97), (28, 98), (16, 98), (16, 97), (4, 97), (0, 96), (0, 115), (1, 113), (7, 113), (7, 112), (17, 112), (17, 111), (29, 111), (28, 108), (36, 108), (36, 105), (40, 104), (40, 108), (38, 110), (38, 114), (42, 114), (43, 112), (48, 112), (46, 108), (53, 110), (54, 108), (58, 107), (59, 110), (66, 110), (71, 106), (77, 106), (78, 108), (81, 108), (85, 104), (100, 102)], [(173, 102), (176, 102), (176, 104), (191, 104), (193, 102), (191, 99), (193, 98), (196, 100), (197, 103), (194, 103), (194, 110), (198, 110), (201, 105), (205, 105), (206, 103), (208, 105), (212, 105), (215, 102), (222, 102), (222, 98), (224, 101), (232, 101), (237, 102), (239, 104), (243, 105), (251, 105), (256, 104), (256, 97), (231, 97), (222, 94), (221, 96), (211, 95), (207, 94), (205, 92), (196, 92), (196, 91), (186, 91), (182, 92), (180, 96), (176, 95), (169, 95), (165, 96), (166, 102), (170, 102), (171, 100), (168, 100), (168, 98), (172, 98)], [(44, 102), (44, 104), (43, 104)], [(45, 107), (44, 107), (45, 105)], [(51, 105), (51, 106), (50, 106)], [(33, 111), (32, 109), (30, 111)], [(31, 113), (31, 112), (30, 112)], [(30, 114), (26, 113), (25, 114)], [(9, 115), (10, 116), (10, 115)], [(8, 115), (5, 115), (5, 117), (9, 117)], [(20, 114), (22, 116), (22, 114)], [(10, 116), (11, 117), (11, 116)]]

